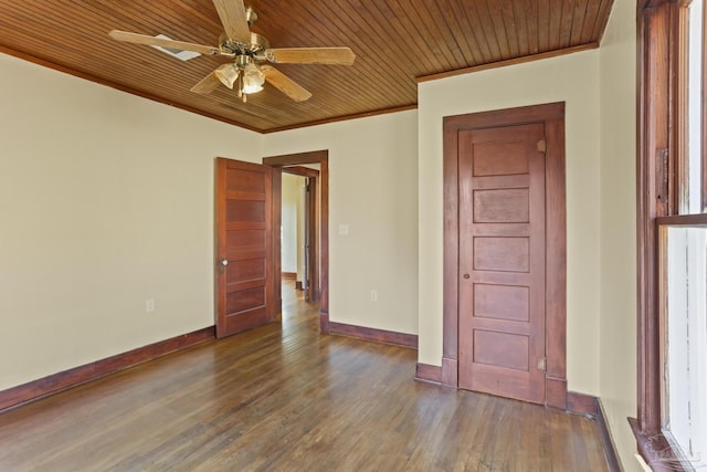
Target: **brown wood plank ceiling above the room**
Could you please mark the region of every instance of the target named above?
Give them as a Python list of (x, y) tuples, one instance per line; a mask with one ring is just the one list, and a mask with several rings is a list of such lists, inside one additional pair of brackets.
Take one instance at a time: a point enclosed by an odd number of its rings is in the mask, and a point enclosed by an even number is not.
[(187, 62), (110, 38), (118, 29), (218, 45), (210, 0), (2, 0), (0, 52), (261, 133), (416, 106), (416, 80), (597, 46), (613, 0), (246, 0), (273, 48), (349, 46), (354, 66), (278, 64), (314, 96), (272, 86), (242, 103), (190, 92), (225, 57)]

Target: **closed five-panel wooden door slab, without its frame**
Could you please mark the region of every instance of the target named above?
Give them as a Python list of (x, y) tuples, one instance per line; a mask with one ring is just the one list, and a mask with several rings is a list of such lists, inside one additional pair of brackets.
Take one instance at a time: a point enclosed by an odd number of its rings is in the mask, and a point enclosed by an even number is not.
[(461, 388), (545, 402), (545, 126), (458, 134)]

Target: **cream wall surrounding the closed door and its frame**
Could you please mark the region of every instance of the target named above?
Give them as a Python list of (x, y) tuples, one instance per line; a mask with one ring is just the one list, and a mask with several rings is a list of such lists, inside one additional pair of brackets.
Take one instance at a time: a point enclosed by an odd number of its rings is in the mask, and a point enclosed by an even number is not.
[(421, 363), (442, 360), (442, 119), (566, 102), (570, 390), (599, 395), (599, 53), (587, 51), (419, 86)]

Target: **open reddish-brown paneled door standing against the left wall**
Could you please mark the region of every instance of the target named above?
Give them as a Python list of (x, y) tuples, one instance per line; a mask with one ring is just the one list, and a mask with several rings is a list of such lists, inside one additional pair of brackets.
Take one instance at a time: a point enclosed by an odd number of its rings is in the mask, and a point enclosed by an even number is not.
[(274, 321), (272, 171), (217, 159), (217, 337)]

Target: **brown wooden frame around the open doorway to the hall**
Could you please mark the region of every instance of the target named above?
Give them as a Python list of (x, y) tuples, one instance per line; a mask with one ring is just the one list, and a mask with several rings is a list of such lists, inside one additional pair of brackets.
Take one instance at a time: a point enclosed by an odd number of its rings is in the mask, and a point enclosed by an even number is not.
[[(318, 291), (315, 290), (315, 300), (319, 300), (319, 329), (323, 333), (328, 333), (329, 331), (329, 151), (327, 149), (324, 150), (314, 150), (308, 153), (297, 153), (297, 154), (288, 154), (288, 155), (279, 155), (279, 156), (270, 156), (263, 158), (263, 165), (271, 166), (276, 170), (273, 174), (273, 199), (282, 199), (282, 171), (284, 167), (297, 167), (306, 164), (318, 164), (319, 165), (319, 177), (318, 177), (318, 196), (319, 196), (319, 218), (317, 233), (318, 238), (318, 270), (319, 277)], [(275, 177), (277, 175), (277, 177)], [(276, 187), (276, 188), (275, 188)], [(276, 225), (279, 225), (281, 221), (281, 206), (274, 206), (274, 222)], [(275, 254), (279, 254), (279, 232), (273, 231), (273, 233), (277, 233), (277, 238), (274, 238)], [(275, 258), (275, 271), (276, 276), (279, 275), (282, 277), (282, 268), (279, 258)], [(315, 271), (316, 272), (316, 271)], [(314, 276), (313, 276), (314, 279)], [(313, 283), (317, 281), (313, 280)], [(282, 306), (282, 294), (281, 294), (281, 285), (276, 284), (276, 298), (281, 301)]]

